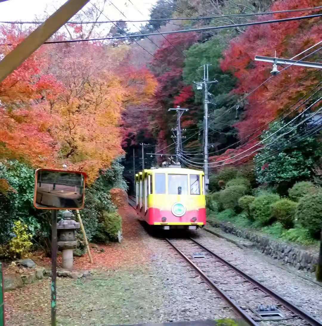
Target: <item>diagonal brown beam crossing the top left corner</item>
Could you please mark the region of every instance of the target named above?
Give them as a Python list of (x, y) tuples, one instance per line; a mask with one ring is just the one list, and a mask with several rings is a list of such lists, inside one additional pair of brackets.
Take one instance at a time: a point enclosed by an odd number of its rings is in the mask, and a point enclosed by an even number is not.
[(0, 82), (17, 69), (43, 42), (72, 18), (89, 0), (68, 0), (0, 61)]

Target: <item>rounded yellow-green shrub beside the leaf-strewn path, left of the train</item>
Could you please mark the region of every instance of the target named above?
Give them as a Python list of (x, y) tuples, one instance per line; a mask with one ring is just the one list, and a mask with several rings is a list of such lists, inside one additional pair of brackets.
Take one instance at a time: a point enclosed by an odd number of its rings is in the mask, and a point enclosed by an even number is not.
[(99, 230), (96, 238), (99, 241), (115, 241), (118, 232), (122, 229), (122, 218), (117, 212), (101, 212), (99, 218)]

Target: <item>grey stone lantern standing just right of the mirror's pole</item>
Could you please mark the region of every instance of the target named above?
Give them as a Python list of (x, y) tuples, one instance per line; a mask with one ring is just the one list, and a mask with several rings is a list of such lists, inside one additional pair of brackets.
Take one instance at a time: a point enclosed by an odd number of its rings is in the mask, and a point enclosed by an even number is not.
[(75, 230), (80, 228), (80, 224), (72, 220), (74, 215), (70, 211), (63, 212), (63, 220), (57, 223), (58, 246), (62, 251), (62, 268), (68, 271), (73, 270), (73, 250), (77, 246)]

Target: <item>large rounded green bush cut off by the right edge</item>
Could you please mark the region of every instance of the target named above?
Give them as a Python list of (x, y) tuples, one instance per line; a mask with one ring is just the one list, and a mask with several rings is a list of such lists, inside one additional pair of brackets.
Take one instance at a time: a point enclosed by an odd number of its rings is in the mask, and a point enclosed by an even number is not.
[(322, 192), (302, 197), (298, 202), (295, 217), (312, 235), (318, 235), (322, 229)]

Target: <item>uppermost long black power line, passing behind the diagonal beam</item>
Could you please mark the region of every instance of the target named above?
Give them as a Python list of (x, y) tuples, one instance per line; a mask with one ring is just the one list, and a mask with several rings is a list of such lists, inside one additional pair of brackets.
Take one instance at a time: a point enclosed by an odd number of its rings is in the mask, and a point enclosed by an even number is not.
[[(0, 2), (4, 2), (7, 0), (0, 0)], [(98, 22), (70, 22), (68, 24), (103, 24), (103, 23), (112, 23), (112, 22), (167, 22), (173, 20), (207, 20), (207, 19), (216, 19), (216, 18), (225, 18), (225, 17), (247, 17), (247, 16), (258, 16), (258, 15), (271, 15), (282, 12), (296, 12), (296, 11), (307, 11), (307, 10), (315, 10), (320, 9), (322, 6), (318, 7), (309, 7), (309, 8), (301, 8), (301, 9), (290, 9), (290, 10), (279, 10), (279, 11), (268, 11), (268, 12), (257, 12), (257, 13), (247, 13), (247, 14), (231, 14), (231, 15), (214, 15), (214, 16), (203, 16), (203, 17), (177, 17), (177, 18), (162, 18), (162, 19), (148, 19), (148, 20), (114, 20), (114, 21), (98, 21)], [(43, 21), (0, 21), (3, 24), (42, 24)]]

